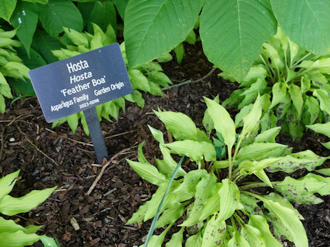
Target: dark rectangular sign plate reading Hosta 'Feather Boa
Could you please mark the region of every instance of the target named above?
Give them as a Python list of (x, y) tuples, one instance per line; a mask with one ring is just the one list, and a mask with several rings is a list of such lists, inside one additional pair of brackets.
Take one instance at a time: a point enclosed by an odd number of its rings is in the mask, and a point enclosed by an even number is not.
[(48, 123), (133, 92), (118, 43), (29, 71)]

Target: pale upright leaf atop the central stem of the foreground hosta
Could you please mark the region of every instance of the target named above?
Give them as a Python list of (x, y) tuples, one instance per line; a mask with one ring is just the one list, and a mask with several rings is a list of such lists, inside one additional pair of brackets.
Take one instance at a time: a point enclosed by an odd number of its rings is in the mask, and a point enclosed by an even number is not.
[(208, 114), (213, 120), (215, 130), (221, 133), (225, 144), (228, 145), (228, 149), (231, 150), (236, 138), (234, 121), (232, 121), (228, 111), (225, 110), (223, 106), (207, 97), (203, 98), (208, 106)]

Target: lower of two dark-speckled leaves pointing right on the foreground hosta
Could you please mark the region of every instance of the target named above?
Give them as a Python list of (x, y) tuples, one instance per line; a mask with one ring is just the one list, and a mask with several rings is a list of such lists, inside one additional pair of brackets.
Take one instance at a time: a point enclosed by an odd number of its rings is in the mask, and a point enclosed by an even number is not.
[(314, 196), (314, 193), (318, 193), (325, 186), (330, 186), (326, 181), (318, 181), (315, 178), (306, 176), (297, 180), (287, 176), (283, 181), (273, 185), (287, 200), (299, 204), (319, 204), (323, 202), (322, 199)]

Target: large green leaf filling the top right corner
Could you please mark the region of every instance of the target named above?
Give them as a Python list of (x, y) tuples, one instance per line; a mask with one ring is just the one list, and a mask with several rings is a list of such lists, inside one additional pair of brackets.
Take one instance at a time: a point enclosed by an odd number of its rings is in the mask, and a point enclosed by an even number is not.
[(292, 41), (318, 55), (330, 53), (330, 1), (271, 0), (271, 3), (281, 29)]

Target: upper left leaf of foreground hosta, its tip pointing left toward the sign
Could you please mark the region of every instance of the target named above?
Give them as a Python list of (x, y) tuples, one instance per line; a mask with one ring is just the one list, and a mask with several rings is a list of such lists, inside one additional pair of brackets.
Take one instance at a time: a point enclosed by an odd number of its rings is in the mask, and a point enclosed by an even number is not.
[(155, 115), (165, 124), (166, 128), (172, 132), (173, 137), (178, 141), (196, 140), (197, 129), (194, 122), (183, 113), (155, 111)]

